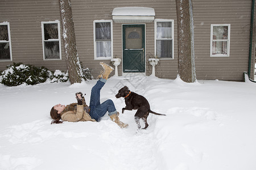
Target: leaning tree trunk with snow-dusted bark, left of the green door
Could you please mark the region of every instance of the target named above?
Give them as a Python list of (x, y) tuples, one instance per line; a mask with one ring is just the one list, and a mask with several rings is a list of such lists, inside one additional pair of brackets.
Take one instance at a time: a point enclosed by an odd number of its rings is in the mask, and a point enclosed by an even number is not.
[(59, 0), (61, 28), (63, 31), (64, 53), (71, 84), (82, 82), (82, 69), (76, 49), (76, 36), (71, 2)]

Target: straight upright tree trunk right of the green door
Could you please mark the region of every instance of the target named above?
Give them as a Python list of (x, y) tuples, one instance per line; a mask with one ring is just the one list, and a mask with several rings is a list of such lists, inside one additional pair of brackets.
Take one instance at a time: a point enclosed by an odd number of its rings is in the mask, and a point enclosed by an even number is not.
[(196, 81), (192, 0), (176, 0), (178, 76), (187, 83)]

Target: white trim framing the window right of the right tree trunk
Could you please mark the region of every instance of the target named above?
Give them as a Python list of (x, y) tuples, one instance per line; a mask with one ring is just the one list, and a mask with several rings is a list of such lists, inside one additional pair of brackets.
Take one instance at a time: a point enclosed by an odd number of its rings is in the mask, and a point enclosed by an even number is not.
[[(212, 42), (213, 42), (212, 35), (213, 35), (214, 26), (228, 26), (228, 40), (219, 40), (219, 41), (227, 41), (227, 54), (212, 54)], [(229, 57), (229, 50), (230, 50), (230, 24), (210, 24), (210, 57)]]

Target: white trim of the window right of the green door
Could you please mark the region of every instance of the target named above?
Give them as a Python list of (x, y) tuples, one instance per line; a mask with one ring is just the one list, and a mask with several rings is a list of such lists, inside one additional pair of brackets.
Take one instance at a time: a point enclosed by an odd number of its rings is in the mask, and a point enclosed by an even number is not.
[[(157, 22), (172, 22), (172, 39), (168, 39), (168, 40), (172, 40), (172, 58), (159, 57), (159, 59), (174, 59), (174, 19), (155, 19), (155, 56), (156, 56), (156, 23)], [(159, 40), (163, 40), (163, 39), (159, 39)]]

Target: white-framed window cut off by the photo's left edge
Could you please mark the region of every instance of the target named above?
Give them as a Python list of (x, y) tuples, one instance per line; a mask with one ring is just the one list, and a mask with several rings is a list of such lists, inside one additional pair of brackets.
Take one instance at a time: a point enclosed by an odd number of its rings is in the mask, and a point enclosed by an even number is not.
[(11, 61), (10, 23), (0, 23), (0, 61)]

